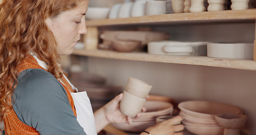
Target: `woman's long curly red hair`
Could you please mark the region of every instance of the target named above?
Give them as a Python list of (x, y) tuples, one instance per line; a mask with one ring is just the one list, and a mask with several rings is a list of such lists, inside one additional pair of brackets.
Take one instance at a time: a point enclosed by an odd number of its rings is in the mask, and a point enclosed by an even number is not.
[(12, 109), (17, 66), (30, 52), (37, 53), (56, 78), (62, 77), (57, 43), (45, 20), (74, 9), (82, 1), (88, 0), (0, 0), (0, 121)]

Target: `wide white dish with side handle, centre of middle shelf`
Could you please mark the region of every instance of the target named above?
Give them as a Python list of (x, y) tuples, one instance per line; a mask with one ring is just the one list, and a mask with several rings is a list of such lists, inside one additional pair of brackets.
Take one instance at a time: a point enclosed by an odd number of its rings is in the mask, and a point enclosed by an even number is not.
[(203, 55), (207, 54), (208, 42), (180, 42), (162, 40), (149, 42), (147, 51), (154, 55)]

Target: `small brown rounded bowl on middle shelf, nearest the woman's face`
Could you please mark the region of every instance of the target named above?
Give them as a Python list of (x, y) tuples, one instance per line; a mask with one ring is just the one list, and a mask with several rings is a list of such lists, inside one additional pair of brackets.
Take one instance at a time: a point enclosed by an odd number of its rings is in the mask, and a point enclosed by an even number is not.
[(118, 52), (132, 52), (136, 50), (141, 44), (138, 40), (113, 40), (112, 48)]

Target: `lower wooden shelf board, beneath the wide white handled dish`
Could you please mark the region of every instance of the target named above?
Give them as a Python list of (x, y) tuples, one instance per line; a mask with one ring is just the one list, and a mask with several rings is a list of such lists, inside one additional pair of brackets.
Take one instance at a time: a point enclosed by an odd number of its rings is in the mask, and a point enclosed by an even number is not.
[(149, 62), (164, 62), (172, 64), (188, 64), (201, 66), (214, 66), (220, 68), (254, 70), (256, 71), (256, 61), (240, 59), (218, 59), (206, 56), (170, 56), (151, 55), (146, 52), (116, 52), (106, 50), (74, 50), (73, 55), (101, 57), (118, 60), (134, 60)]

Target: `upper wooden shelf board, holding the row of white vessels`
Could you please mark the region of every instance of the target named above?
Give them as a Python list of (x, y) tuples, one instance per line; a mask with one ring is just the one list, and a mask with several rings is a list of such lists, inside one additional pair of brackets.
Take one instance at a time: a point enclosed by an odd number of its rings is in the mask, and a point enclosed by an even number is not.
[(121, 19), (88, 20), (87, 26), (178, 24), (181, 22), (236, 22), (255, 21), (256, 9), (224, 10), (190, 13), (169, 13), (165, 15), (129, 17)]

